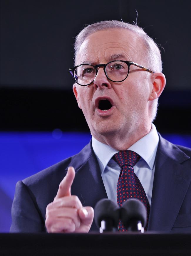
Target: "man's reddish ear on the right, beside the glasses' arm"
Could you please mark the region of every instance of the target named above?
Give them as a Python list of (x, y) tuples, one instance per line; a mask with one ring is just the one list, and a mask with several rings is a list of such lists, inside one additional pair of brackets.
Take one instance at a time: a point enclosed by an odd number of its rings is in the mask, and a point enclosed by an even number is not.
[(160, 94), (165, 88), (165, 84), (166, 84), (165, 75), (162, 73), (154, 73), (152, 74), (151, 81), (153, 84), (153, 88), (150, 93), (149, 100), (155, 100), (160, 96)]

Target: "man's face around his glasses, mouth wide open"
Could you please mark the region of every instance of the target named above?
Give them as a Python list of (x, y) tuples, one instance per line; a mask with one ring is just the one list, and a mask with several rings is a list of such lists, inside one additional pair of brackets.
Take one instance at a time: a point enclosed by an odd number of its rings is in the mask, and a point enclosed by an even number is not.
[[(76, 57), (76, 65), (97, 65), (113, 60), (133, 61), (148, 66), (143, 59), (144, 47), (135, 33), (125, 29), (101, 30), (93, 33), (82, 43)], [(133, 133), (148, 121), (148, 100), (152, 90), (150, 73), (130, 66), (123, 82), (112, 82), (105, 76), (103, 67), (98, 68), (94, 82), (88, 86), (73, 85), (78, 106), (82, 109), (91, 134), (102, 136)], [(110, 109), (104, 111), (102, 100), (110, 101)], [(104, 106), (104, 102), (103, 102)], [(108, 108), (105, 107), (105, 108)]]

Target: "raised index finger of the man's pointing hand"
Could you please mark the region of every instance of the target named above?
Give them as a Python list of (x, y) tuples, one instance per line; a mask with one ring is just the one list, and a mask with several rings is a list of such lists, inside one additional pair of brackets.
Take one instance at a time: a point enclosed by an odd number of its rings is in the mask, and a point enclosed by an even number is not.
[(73, 183), (74, 177), (75, 177), (75, 170), (72, 166), (70, 166), (68, 167), (66, 176), (60, 182), (60, 185), (58, 187), (58, 192), (55, 198), (61, 198), (64, 196), (71, 195), (71, 185)]

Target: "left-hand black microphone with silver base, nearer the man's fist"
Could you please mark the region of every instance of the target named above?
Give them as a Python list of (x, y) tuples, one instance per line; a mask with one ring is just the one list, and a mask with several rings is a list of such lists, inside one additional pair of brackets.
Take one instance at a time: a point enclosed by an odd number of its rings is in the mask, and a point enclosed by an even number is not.
[(96, 203), (94, 208), (94, 220), (100, 233), (117, 231), (119, 212), (118, 206), (107, 198), (101, 199)]

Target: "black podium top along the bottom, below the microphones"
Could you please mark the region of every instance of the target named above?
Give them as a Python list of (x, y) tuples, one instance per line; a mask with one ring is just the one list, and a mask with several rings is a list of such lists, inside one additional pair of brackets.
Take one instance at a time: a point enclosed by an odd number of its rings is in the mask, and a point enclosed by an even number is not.
[(191, 255), (191, 234), (0, 234), (0, 255)]

